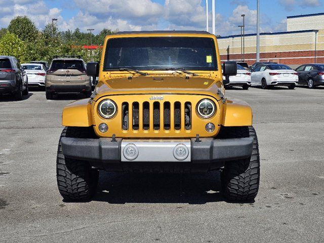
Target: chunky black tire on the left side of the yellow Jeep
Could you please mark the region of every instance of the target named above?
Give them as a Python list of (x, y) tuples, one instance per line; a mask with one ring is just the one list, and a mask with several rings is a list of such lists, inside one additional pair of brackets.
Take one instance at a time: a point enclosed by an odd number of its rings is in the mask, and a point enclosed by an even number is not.
[(97, 191), (99, 172), (92, 169), (87, 161), (65, 158), (62, 153), (61, 139), (64, 137), (93, 138), (90, 128), (64, 128), (57, 150), (56, 177), (59, 192), (66, 200), (87, 200)]

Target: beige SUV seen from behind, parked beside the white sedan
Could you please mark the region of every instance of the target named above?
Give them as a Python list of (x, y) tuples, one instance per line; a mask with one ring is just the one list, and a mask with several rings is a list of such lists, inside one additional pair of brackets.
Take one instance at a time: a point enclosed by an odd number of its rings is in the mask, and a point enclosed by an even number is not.
[(91, 80), (80, 56), (55, 56), (46, 73), (46, 98), (57, 93), (83, 93), (91, 96)]

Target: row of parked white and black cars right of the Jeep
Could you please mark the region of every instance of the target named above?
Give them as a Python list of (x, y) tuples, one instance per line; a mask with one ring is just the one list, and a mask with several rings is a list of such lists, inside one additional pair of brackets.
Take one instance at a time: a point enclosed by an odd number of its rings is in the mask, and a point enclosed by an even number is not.
[[(229, 86), (241, 86), (248, 90), (250, 86), (269, 89), (274, 86), (287, 86), (295, 89), (296, 85), (307, 85), (313, 89), (324, 85), (324, 64), (305, 64), (293, 70), (291, 67), (273, 62), (253, 65), (250, 71), (237, 64), (237, 75), (229, 77)], [(252, 66), (252, 67), (253, 67)], [(225, 77), (223, 77), (225, 79)]]

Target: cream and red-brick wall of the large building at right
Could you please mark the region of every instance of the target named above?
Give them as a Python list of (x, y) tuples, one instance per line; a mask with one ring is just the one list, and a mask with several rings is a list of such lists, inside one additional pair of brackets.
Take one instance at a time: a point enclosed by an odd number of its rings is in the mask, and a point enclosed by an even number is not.
[[(317, 21), (317, 16), (288, 18), (288, 29), (291, 31), (280, 33), (260, 34), (260, 59), (261, 61), (275, 61), (289, 65), (299, 65), (307, 62), (314, 62), (315, 36), (317, 39), (316, 61), (324, 63), (324, 14), (319, 16), (321, 23), (316, 25), (318, 33), (311, 28)], [(302, 19), (302, 20), (301, 20)], [(309, 21), (309, 22), (307, 22)], [(304, 22), (304, 24), (302, 24)], [(308, 28), (305, 30), (303, 29)], [(293, 28), (301, 28), (292, 31)], [(219, 37), (221, 61), (240, 61), (241, 37), (240, 35)], [(256, 61), (256, 34), (245, 36), (245, 57), (244, 59), (253, 64)]]

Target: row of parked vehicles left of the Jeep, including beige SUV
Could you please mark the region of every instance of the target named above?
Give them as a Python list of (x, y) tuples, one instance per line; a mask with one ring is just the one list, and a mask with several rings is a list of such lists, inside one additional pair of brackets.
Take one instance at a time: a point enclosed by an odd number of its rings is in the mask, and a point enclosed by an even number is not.
[(19, 64), (15, 57), (0, 56), (0, 94), (11, 94), (21, 100), (28, 95), (28, 87), (44, 87), (47, 99), (58, 93), (90, 97), (97, 80), (88, 76), (86, 70), (80, 56), (56, 56), (50, 66), (46, 61)]

